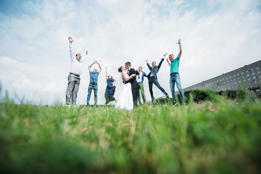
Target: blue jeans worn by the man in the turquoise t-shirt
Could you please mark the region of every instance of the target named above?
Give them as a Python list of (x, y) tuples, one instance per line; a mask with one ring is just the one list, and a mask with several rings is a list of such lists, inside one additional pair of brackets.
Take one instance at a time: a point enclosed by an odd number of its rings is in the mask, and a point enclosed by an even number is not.
[(183, 93), (183, 89), (181, 87), (181, 80), (180, 80), (179, 73), (176, 73), (176, 74), (170, 76), (170, 91), (172, 93), (173, 102), (177, 102), (177, 97), (176, 97), (176, 93), (175, 93), (175, 82), (176, 82), (177, 88), (179, 90), (181, 102), (184, 102), (184, 93)]

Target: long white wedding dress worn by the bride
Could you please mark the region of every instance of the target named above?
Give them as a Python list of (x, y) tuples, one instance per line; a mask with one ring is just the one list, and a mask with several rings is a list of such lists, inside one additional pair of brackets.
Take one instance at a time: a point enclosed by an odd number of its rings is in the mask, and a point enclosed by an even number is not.
[(124, 85), (123, 89), (120, 92), (120, 96), (118, 97), (117, 103), (114, 106), (114, 109), (133, 109), (132, 85), (130, 83)]

